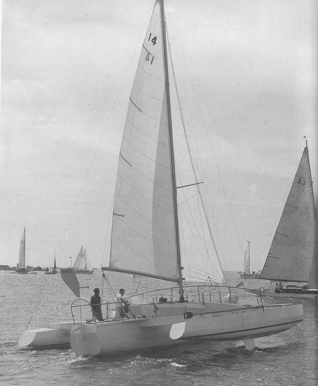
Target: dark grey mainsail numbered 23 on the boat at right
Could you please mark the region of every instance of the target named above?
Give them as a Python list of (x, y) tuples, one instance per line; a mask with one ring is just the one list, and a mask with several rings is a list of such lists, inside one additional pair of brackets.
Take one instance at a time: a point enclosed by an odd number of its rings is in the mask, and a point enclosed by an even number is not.
[(314, 203), (307, 147), (278, 223), (262, 279), (308, 281), (315, 233)]

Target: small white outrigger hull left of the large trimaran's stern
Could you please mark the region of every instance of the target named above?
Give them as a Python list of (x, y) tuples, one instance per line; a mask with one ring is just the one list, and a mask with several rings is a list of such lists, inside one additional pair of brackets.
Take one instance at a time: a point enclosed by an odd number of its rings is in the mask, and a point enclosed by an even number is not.
[(26, 330), (19, 339), (23, 347), (43, 347), (70, 344), (73, 322), (50, 323), (48, 327)]

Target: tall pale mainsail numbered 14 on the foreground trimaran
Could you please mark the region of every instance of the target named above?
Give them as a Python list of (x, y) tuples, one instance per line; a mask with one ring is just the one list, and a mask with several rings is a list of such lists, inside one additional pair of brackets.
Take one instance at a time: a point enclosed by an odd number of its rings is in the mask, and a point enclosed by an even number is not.
[[(119, 156), (110, 260), (103, 269), (180, 283), (177, 186), (161, 6), (157, 0), (129, 99)], [(222, 281), (219, 262), (211, 264), (200, 253), (194, 258), (202, 262), (203, 268), (193, 264), (197, 273), (188, 274), (187, 279), (201, 280), (204, 270), (206, 280), (204, 268), (213, 265), (213, 280)]]

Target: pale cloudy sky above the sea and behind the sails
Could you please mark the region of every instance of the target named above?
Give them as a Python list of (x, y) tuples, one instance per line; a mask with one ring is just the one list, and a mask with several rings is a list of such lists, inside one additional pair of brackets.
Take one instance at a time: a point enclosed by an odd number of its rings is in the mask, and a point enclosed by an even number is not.
[[(198, 6), (199, 4), (199, 6)], [(130, 89), (154, 2), (3, 0), (0, 264), (107, 252)], [(317, 4), (166, 0), (225, 268), (262, 268), (305, 145), (316, 191)], [(183, 100), (185, 100), (183, 98)], [(190, 112), (191, 111), (191, 112)]]

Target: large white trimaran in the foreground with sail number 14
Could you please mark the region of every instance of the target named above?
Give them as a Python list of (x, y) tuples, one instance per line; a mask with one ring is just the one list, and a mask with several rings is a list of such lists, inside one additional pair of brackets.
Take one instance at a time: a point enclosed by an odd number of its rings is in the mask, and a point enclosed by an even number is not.
[[(114, 318), (75, 323), (70, 342), (79, 355), (110, 354), (193, 339), (242, 339), (251, 350), (255, 347), (254, 338), (285, 331), (303, 319), (300, 304), (222, 303), (222, 284), (218, 283), (226, 281), (218, 254), (211, 258), (206, 252), (215, 244), (212, 237), (212, 241), (204, 243), (203, 232), (211, 236), (211, 229), (191, 153), (195, 182), (176, 183), (170, 92), (172, 88), (177, 92), (177, 87), (175, 79), (169, 79), (168, 63), (171, 67), (172, 59), (168, 57), (167, 45), (164, 4), (163, 0), (156, 0), (129, 99), (119, 153), (109, 265), (102, 269), (175, 282), (177, 287), (166, 288), (168, 293), (171, 291), (170, 301), (167, 297), (155, 301), (156, 296), (148, 300), (145, 294), (141, 295), (129, 307), (130, 317), (121, 313), (121, 303), (115, 304)], [(178, 100), (175, 96), (173, 101)], [(185, 134), (184, 138), (187, 140)], [(180, 179), (179, 170), (177, 176)], [(177, 204), (177, 190), (182, 192), (186, 186), (195, 186), (196, 202), (201, 208), (192, 219), (206, 220), (204, 227), (189, 227), (193, 231), (190, 235), (197, 231), (205, 246), (198, 253), (189, 250), (195, 257), (190, 268), (181, 263), (179, 221), (180, 230), (183, 228), (179, 215), (183, 207), (178, 209)], [(186, 243), (192, 237), (182, 237), (183, 240)], [(183, 249), (184, 263), (186, 253)], [(200, 293), (198, 300), (198, 293), (193, 295), (193, 288), (183, 285), (186, 269), (189, 278), (201, 283), (203, 271), (209, 269), (211, 273), (205, 273), (205, 280), (213, 284), (209, 291), (219, 285), (220, 301), (208, 301)], [(172, 297), (173, 291), (178, 294), (177, 299)]]

